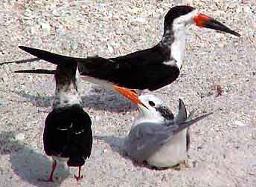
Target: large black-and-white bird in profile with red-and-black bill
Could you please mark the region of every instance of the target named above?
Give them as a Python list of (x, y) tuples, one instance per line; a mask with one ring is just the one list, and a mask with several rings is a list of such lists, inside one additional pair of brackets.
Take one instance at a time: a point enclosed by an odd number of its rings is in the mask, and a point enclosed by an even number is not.
[[(185, 53), (185, 26), (187, 24), (196, 24), (198, 27), (207, 27), (240, 36), (239, 33), (199, 13), (193, 7), (176, 6), (171, 8), (164, 17), (164, 35), (159, 44), (125, 56), (110, 59), (99, 56), (74, 58), (31, 47), (20, 46), (20, 48), (39, 59), (56, 65), (63, 62), (78, 62), (80, 75), (84, 79), (106, 88), (119, 85), (130, 89), (154, 91), (169, 85), (179, 76)], [(43, 73), (42, 70), (19, 72)]]

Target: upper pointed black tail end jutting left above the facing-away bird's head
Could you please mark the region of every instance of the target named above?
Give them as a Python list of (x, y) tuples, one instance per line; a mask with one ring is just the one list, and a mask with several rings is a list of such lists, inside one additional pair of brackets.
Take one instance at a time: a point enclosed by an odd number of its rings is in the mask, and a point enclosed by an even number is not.
[(25, 50), (27, 53), (30, 53), (33, 56), (38, 57), (39, 59), (43, 59), (47, 62), (51, 62), (54, 65), (60, 65), (63, 61), (73, 61), (76, 58), (69, 57), (69, 56), (63, 56), (55, 53), (48, 52), (46, 50), (39, 50), (32, 47), (25, 47), (25, 46), (19, 46), (20, 49)]

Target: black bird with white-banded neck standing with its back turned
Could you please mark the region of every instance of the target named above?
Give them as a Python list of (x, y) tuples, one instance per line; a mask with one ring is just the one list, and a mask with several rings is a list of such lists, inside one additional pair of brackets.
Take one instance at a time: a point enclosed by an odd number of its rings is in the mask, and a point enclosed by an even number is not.
[(81, 167), (92, 151), (92, 121), (89, 114), (83, 111), (77, 92), (77, 76), (77, 63), (57, 65), (53, 110), (45, 119), (43, 134), (45, 153), (54, 160), (47, 181), (53, 181), (57, 160), (78, 167), (78, 176), (74, 177), (82, 179)]

